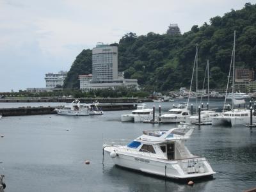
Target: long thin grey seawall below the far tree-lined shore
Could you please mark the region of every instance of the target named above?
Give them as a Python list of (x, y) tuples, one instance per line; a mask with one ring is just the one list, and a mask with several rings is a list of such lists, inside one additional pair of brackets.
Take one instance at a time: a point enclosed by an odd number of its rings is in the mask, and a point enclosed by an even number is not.
[[(77, 98), (81, 103), (92, 103), (97, 100), (100, 103), (138, 103), (152, 101), (148, 99), (138, 98)], [(70, 103), (74, 98), (63, 98), (63, 97), (28, 97), (28, 98), (10, 98), (0, 99), (0, 102), (67, 102)]]

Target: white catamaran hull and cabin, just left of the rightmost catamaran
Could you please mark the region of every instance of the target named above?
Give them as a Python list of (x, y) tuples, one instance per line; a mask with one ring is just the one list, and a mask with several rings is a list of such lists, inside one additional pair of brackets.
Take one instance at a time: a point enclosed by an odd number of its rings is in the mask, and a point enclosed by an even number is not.
[[(209, 110), (201, 111), (201, 113), (200, 113), (200, 122), (201, 123), (212, 124), (212, 118), (214, 116), (218, 116), (219, 114), (220, 113), (217, 113), (215, 111), (209, 111)], [(197, 124), (198, 123), (198, 119), (199, 119), (198, 115), (192, 115), (192, 116), (189, 116), (186, 119), (186, 123)]]

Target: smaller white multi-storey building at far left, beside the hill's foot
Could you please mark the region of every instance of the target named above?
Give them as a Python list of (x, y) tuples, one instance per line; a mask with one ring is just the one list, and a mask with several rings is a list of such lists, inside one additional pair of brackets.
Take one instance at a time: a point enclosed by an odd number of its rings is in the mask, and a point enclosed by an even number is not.
[(60, 71), (58, 74), (47, 73), (45, 74), (46, 88), (55, 88), (60, 85), (63, 86), (64, 80), (67, 77), (67, 71)]

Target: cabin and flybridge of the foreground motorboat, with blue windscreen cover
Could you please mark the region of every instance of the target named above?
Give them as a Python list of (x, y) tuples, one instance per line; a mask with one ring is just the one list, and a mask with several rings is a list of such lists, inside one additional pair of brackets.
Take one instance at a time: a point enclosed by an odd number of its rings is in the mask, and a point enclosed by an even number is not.
[(175, 128), (172, 131), (143, 131), (143, 136), (127, 145), (127, 148), (142, 152), (144, 156), (154, 156), (165, 160), (193, 158), (184, 143), (193, 132), (193, 128)]

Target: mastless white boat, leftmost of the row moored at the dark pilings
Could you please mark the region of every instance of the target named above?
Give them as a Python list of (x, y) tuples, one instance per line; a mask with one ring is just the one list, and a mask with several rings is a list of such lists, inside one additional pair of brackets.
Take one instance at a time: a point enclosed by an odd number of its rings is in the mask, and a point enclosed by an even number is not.
[(153, 109), (145, 109), (146, 104), (137, 106), (137, 109), (132, 111), (131, 114), (126, 114), (121, 116), (122, 122), (143, 122), (147, 120), (152, 120)]

